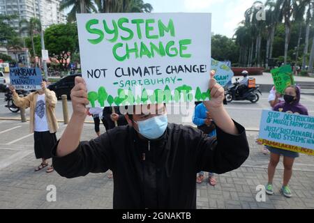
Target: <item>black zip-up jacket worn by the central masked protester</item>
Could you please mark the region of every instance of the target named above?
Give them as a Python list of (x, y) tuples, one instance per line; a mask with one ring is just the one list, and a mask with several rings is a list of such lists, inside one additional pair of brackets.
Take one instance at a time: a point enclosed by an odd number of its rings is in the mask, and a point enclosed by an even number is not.
[(55, 156), (56, 145), (53, 166), (66, 178), (111, 169), (114, 208), (196, 208), (197, 172), (223, 174), (240, 167), (248, 157), (246, 132), (235, 124), (239, 135), (217, 127), (217, 138), (168, 124), (165, 134), (154, 141), (144, 141), (132, 127), (121, 126), (81, 142), (65, 157)]

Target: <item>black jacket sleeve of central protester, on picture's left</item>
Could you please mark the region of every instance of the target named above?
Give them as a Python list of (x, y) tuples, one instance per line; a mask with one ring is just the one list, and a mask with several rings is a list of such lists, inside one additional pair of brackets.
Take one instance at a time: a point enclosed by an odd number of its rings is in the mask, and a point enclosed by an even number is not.
[(82, 141), (73, 153), (57, 157), (59, 141), (52, 149), (53, 167), (58, 174), (66, 178), (85, 176), (89, 173), (103, 173), (112, 169), (112, 144), (107, 134), (91, 141)]

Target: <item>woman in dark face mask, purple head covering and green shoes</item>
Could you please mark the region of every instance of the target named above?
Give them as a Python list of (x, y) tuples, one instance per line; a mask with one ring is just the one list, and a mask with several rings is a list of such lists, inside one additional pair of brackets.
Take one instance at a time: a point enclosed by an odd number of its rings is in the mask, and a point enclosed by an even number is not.
[[(300, 102), (300, 89), (299, 86), (289, 86), (285, 89), (285, 94), (283, 95), (284, 102), (279, 103), (274, 107), (276, 112), (287, 112), (290, 114), (303, 114), (308, 115), (308, 110), (306, 107), (301, 105)], [(281, 187), (281, 192), (285, 197), (292, 197), (292, 193), (288, 186), (289, 180), (292, 176), (292, 166), (294, 159), (299, 157), (299, 153), (292, 151), (283, 150), (280, 148), (274, 148), (267, 146), (271, 152), (269, 166), (268, 166), (268, 183), (266, 185), (266, 192), (269, 195), (274, 194), (273, 190), (273, 178), (276, 170), (276, 166), (280, 160), (281, 155), (283, 155), (283, 186)]]

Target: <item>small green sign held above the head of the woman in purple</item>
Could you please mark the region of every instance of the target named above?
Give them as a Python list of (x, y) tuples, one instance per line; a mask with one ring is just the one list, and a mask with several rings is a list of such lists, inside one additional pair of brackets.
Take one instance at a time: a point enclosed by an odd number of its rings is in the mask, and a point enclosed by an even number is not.
[(271, 70), (271, 75), (278, 93), (283, 94), (287, 86), (294, 84), (294, 76), (290, 65)]

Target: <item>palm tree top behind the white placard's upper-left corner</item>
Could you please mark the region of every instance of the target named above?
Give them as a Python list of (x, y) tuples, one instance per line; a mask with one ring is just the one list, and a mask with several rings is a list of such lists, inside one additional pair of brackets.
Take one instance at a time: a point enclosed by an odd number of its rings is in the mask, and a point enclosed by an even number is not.
[(72, 8), (68, 13), (68, 22), (76, 21), (76, 13), (96, 13), (97, 9), (93, 0), (62, 0), (60, 10)]

